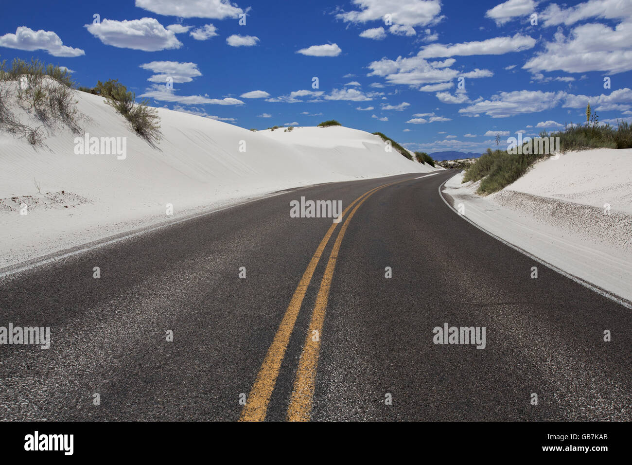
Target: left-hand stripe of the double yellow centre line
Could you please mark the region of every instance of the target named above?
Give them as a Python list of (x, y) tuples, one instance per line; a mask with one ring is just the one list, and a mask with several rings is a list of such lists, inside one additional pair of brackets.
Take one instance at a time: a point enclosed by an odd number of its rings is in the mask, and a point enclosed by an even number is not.
[[(360, 197), (355, 199), (355, 201), (351, 202), (351, 204), (344, 209), (340, 218), (342, 219), (344, 214), (347, 213), (347, 211), (349, 211), (356, 202), (360, 201), (360, 199), (373, 194), (375, 190), (386, 187), (387, 185), (389, 184), (375, 187), (374, 189), (368, 190), (364, 194), (360, 195)], [(272, 344), (265, 355), (264, 363), (262, 363), (257, 374), (257, 378), (255, 378), (255, 383), (252, 386), (252, 390), (250, 390), (250, 395), (248, 395), (246, 405), (243, 407), (243, 411), (241, 411), (240, 421), (265, 420), (265, 414), (268, 409), (268, 404), (270, 403), (270, 396), (272, 395), (272, 391), (274, 391), (274, 386), (276, 385), (276, 380), (281, 369), (281, 363), (283, 363), (283, 357), (285, 356), (286, 349), (288, 348), (289, 337), (294, 330), (296, 318), (298, 317), (301, 305), (303, 304), (303, 299), (305, 298), (305, 292), (307, 292), (307, 288), (312, 281), (312, 276), (320, 261), (322, 251), (324, 251), (325, 246), (327, 245), (327, 242), (329, 242), (329, 238), (336, 229), (337, 225), (338, 223), (332, 223), (332, 225), (329, 226), (329, 230), (327, 230), (325, 237), (323, 237), (320, 241), (316, 252), (313, 254), (310, 263), (307, 265), (305, 273), (303, 273), (303, 277), (298, 283), (298, 287), (296, 287), (296, 290), (294, 291), (294, 295), (292, 295), (288, 309), (286, 310), (286, 313), (281, 320), (281, 324), (279, 325), (279, 329), (277, 330), (276, 335), (274, 335)], [(346, 226), (344, 227), (346, 228)]]

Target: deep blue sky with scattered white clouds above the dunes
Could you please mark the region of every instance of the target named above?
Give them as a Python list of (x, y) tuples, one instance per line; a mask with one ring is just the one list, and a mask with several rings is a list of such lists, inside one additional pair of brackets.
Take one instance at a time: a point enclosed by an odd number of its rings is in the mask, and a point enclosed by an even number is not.
[(632, 119), (631, 0), (11, 2), (16, 57), (245, 128), (335, 118), (427, 152), (582, 123), (588, 101)]

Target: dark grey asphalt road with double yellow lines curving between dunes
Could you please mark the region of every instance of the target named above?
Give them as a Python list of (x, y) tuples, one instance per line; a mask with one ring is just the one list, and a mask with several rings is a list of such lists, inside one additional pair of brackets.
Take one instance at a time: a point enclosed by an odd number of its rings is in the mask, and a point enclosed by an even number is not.
[[(291, 190), (1, 278), (0, 326), (52, 342), (0, 345), (0, 419), (632, 419), (631, 311), (460, 218), (453, 174)], [(335, 226), (289, 216), (366, 192)], [(434, 344), (444, 323), (485, 349)]]

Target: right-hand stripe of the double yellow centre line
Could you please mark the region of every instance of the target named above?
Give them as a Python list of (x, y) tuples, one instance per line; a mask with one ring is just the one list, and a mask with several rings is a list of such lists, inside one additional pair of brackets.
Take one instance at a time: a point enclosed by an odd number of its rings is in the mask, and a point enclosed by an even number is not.
[[(336, 237), (334, 247), (329, 254), (329, 261), (327, 261), (327, 268), (320, 282), (320, 289), (316, 297), (316, 303), (312, 313), (312, 321), (310, 321), (309, 331), (305, 338), (305, 344), (303, 345), (303, 353), (301, 354), (300, 361), (298, 362), (298, 369), (296, 371), (296, 378), (294, 381), (294, 389), (291, 394), (288, 407), (288, 420), (289, 421), (309, 421), (312, 413), (312, 400), (314, 394), (314, 388), (316, 383), (316, 370), (318, 368), (318, 359), (320, 353), (320, 340), (322, 338), (322, 327), (325, 321), (325, 310), (327, 309), (327, 300), (329, 299), (329, 288), (334, 278), (334, 269), (336, 268), (336, 261), (338, 258), (338, 252), (340, 250), (340, 244), (343, 242), (344, 233), (349, 226), (349, 222), (358, 208), (375, 192), (378, 190), (400, 182), (410, 181), (406, 179), (403, 181), (393, 182), (390, 184), (377, 187), (366, 195), (362, 201), (360, 201), (355, 208), (349, 213), (349, 216), (344, 221), (343, 227)], [(349, 206), (350, 207), (350, 206)]]

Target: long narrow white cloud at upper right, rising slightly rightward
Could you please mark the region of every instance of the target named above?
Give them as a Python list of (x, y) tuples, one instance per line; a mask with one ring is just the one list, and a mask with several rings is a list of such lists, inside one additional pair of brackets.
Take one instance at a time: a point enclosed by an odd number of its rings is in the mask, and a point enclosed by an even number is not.
[(447, 46), (430, 44), (418, 53), (422, 58), (471, 55), (502, 55), (510, 52), (521, 52), (535, 46), (535, 39), (528, 35), (516, 34), (513, 37), (494, 37), (476, 42), (463, 42)]

